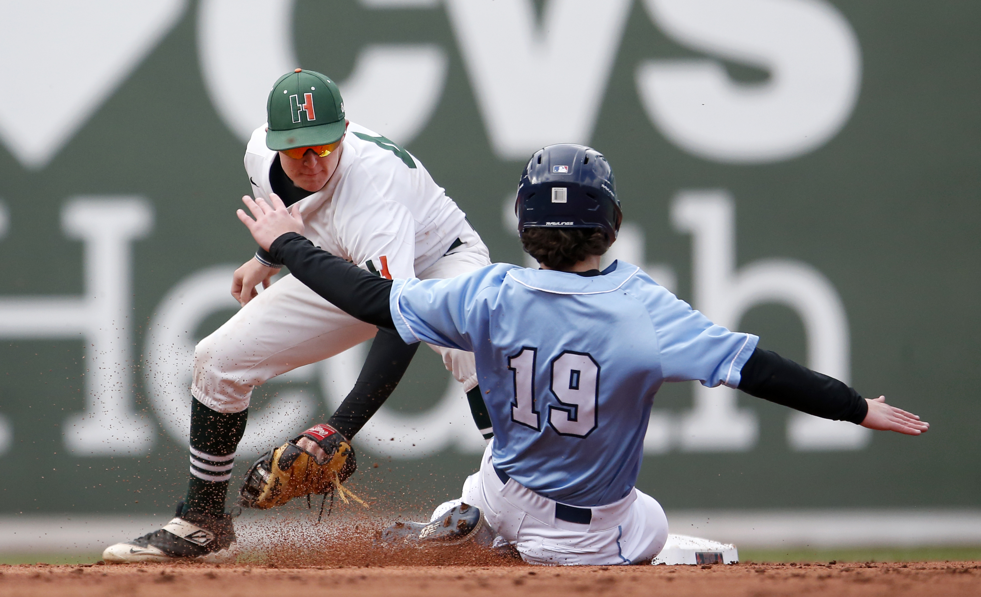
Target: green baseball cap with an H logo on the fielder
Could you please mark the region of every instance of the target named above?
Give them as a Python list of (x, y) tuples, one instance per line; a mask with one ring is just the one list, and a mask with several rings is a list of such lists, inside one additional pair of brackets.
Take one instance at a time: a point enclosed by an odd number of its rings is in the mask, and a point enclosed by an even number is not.
[(266, 102), (266, 147), (329, 145), (344, 134), (344, 100), (327, 75), (296, 69), (281, 76)]

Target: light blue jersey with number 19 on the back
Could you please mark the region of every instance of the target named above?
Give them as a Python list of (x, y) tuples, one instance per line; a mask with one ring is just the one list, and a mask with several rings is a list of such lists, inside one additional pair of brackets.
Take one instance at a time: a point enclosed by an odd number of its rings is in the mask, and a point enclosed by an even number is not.
[(626, 496), (664, 381), (739, 385), (758, 338), (710, 322), (637, 266), (603, 275), (506, 264), (396, 279), (402, 339), (471, 351), (493, 423), (493, 464), (573, 506)]

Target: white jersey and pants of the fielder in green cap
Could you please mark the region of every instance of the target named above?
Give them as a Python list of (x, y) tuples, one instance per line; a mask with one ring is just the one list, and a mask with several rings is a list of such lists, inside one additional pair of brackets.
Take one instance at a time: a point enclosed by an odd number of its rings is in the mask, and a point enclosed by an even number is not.
[[(269, 199), (274, 192), (269, 174), (278, 152), (267, 147), (266, 134), (265, 124), (252, 133), (245, 170), (255, 195)], [(348, 122), (337, 153), (336, 171), (327, 184), (296, 203), (318, 246), (387, 278), (453, 277), (490, 264), (487, 246), (466, 216), (404, 149)], [(292, 275), (253, 300), (195, 350), (191, 393), (209, 408), (245, 408), (253, 386), (332, 357), (378, 330), (327, 303)], [(257, 352), (255, 346), (242, 346), (243, 334), (263, 338), (267, 348)], [(464, 390), (477, 385), (473, 353), (430, 346)]]

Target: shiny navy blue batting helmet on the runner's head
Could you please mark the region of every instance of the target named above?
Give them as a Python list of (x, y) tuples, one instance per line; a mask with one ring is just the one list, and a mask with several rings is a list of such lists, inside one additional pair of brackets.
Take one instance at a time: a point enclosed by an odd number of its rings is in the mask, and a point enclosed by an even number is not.
[(601, 153), (575, 143), (549, 145), (528, 162), (514, 203), (525, 228), (602, 228), (613, 242), (623, 213), (613, 169)]

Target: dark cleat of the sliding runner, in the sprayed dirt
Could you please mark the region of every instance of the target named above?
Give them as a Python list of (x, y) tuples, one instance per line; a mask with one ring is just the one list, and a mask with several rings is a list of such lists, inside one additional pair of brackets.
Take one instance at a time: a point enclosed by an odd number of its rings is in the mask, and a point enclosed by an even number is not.
[(473, 541), (492, 547), (494, 533), (480, 509), (460, 504), (433, 522), (395, 522), (382, 531), (382, 542), (391, 546), (429, 547)]

